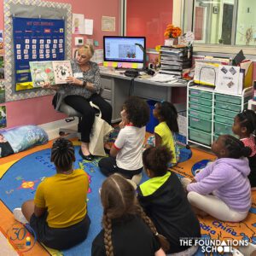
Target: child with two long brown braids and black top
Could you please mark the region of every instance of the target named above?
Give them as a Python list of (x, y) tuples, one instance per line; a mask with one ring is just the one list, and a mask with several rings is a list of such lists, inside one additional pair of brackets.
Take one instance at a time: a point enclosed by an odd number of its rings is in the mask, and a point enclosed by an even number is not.
[(169, 244), (139, 206), (131, 183), (115, 173), (102, 183), (100, 195), (103, 229), (92, 242), (92, 256), (166, 255), (161, 247)]

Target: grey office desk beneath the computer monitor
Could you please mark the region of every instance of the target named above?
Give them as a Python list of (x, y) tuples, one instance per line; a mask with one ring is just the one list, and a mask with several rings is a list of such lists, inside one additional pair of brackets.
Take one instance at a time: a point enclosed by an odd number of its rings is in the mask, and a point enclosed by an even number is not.
[[(131, 78), (114, 71), (101, 71), (101, 82), (104, 88), (102, 97), (108, 101), (113, 108), (112, 122), (120, 120), (120, 111), (125, 100), (129, 96)], [(186, 87), (183, 83), (159, 83), (148, 79), (134, 79), (133, 95), (152, 99), (155, 101), (172, 100), (172, 88)]]

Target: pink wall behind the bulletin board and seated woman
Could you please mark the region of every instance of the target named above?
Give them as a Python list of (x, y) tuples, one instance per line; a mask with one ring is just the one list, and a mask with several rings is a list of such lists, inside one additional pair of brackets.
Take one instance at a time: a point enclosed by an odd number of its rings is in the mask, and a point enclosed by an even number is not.
[[(93, 38), (99, 42), (102, 49), (103, 35), (119, 35), (119, 0), (55, 0), (49, 2), (71, 3), (72, 12), (75, 14), (84, 14), (85, 18), (94, 20)], [(115, 17), (115, 32), (102, 32), (102, 15)], [(3, 0), (0, 0), (0, 30), (3, 29)], [(84, 36), (84, 38), (86, 38)], [(73, 36), (74, 42), (74, 36)], [(7, 125), (14, 127), (16, 125), (41, 125), (58, 119), (65, 118), (65, 115), (56, 113), (51, 105), (52, 96), (41, 96), (33, 99), (7, 102), (2, 105), (7, 107)]]

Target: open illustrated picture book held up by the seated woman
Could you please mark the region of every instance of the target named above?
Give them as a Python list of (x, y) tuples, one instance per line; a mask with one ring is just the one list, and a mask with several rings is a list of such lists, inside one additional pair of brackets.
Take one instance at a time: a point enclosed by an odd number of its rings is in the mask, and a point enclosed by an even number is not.
[(44, 84), (66, 84), (67, 77), (73, 77), (70, 61), (30, 61), (33, 87)]

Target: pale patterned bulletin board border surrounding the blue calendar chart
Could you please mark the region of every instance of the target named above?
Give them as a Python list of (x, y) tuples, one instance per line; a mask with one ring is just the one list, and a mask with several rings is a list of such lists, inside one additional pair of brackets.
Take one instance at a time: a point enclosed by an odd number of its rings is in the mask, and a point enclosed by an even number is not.
[[(4, 38), (5, 38), (5, 97), (6, 102), (50, 95), (51, 90), (20, 90), (16, 91), (14, 51), (14, 20), (26, 18), (27, 20), (61, 20), (64, 22), (64, 38), (62, 43), (64, 59), (71, 58), (72, 41), (72, 6), (69, 3), (43, 2), (40, 0), (4, 0)], [(14, 19), (15, 18), (15, 19)], [(23, 38), (24, 39), (24, 38)], [(61, 39), (61, 38), (60, 38)], [(46, 39), (47, 40), (47, 39)], [(47, 43), (47, 41), (46, 41)], [(40, 44), (40, 42), (38, 43)], [(58, 45), (59, 46), (59, 45)], [(39, 46), (40, 47), (40, 46)], [(23, 52), (24, 53), (24, 52)], [(42, 59), (43, 60), (43, 59)], [(49, 59), (51, 60), (51, 59)], [(37, 61), (37, 60), (35, 60)]]

